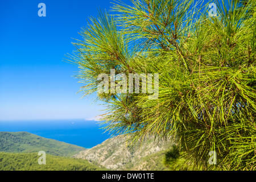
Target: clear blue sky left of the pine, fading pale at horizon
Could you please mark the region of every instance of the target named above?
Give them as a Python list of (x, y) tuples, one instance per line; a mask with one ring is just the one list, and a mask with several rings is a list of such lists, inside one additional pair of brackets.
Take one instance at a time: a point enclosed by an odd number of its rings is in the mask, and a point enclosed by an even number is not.
[[(46, 4), (46, 17), (38, 4)], [(124, 2), (129, 2), (126, 0)], [(101, 113), (94, 97), (81, 99), (81, 84), (65, 63), (72, 38), (107, 0), (0, 1), (0, 121), (88, 119)]]

